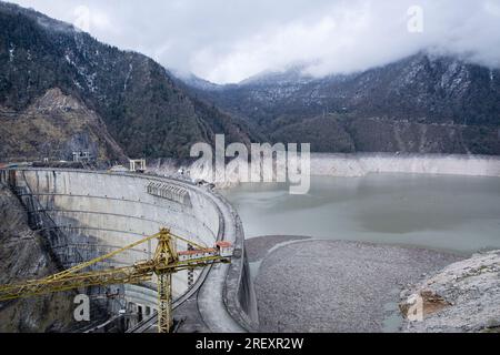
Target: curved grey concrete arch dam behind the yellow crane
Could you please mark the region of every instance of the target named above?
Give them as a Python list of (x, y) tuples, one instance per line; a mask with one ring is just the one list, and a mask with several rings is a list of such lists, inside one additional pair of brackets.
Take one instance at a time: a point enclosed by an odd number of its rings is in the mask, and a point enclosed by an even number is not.
[[(0, 181), (21, 197), (61, 268), (131, 244), (169, 227), (194, 243), (234, 246), (231, 264), (173, 275), (174, 316), (180, 332), (251, 332), (257, 302), (244, 252), (241, 221), (223, 197), (193, 184), (138, 174), (17, 169)], [(178, 242), (179, 250), (188, 248)], [(183, 244), (182, 244), (183, 243)], [(109, 261), (107, 267), (151, 257), (156, 241)], [(153, 332), (156, 284), (121, 286), (127, 308), (140, 313), (130, 329)], [(102, 292), (102, 291), (101, 291)]]

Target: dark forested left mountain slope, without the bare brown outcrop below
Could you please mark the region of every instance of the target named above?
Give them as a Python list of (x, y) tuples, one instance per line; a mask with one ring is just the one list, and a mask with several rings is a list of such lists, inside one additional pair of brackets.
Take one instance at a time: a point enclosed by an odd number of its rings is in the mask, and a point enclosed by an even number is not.
[[(183, 92), (153, 60), (0, 2), (0, 105), (22, 112), (49, 90), (102, 119), (129, 156), (189, 156), (191, 144), (249, 142), (246, 124)], [(30, 136), (17, 138), (29, 141)]]

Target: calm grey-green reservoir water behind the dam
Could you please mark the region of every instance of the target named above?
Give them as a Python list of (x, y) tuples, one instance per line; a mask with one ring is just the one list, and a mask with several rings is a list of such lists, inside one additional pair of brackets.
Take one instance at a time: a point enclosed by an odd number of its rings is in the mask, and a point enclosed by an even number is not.
[(223, 194), (247, 237), (307, 235), (466, 254), (500, 248), (498, 178), (313, 176), (307, 195), (291, 195), (278, 183), (241, 184)]

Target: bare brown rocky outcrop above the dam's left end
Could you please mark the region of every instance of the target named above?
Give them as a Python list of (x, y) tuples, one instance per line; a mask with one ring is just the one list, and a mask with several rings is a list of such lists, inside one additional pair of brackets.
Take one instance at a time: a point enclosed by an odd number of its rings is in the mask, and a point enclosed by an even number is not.
[(17, 161), (71, 160), (89, 151), (99, 161), (123, 161), (126, 154), (94, 111), (51, 89), (21, 111), (0, 108), (0, 156)]

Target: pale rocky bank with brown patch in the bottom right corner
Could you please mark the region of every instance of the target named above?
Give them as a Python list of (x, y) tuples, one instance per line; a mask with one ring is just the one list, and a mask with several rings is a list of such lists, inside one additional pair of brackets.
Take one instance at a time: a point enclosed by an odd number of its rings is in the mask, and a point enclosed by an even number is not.
[[(407, 332), (500, 332), (500, 251), (473, 255), (402, 293), (402, 310), (423, 301), (423, 322)], [(411, 298), (411, 300), (410, 300)]]

